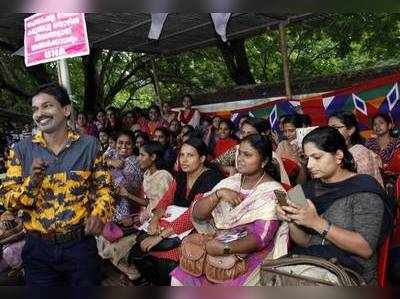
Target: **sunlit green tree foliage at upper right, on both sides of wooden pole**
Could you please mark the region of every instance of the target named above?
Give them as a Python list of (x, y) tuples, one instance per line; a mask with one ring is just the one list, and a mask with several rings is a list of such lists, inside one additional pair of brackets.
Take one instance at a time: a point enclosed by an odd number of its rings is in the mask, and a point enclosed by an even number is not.
[[(311, 24), (287, 28), (292, 78), (354, 72), (398, 64), (400, 14), (336, 14)], [(257, 82), (283, 80), (278, 32), (247, 42)]]

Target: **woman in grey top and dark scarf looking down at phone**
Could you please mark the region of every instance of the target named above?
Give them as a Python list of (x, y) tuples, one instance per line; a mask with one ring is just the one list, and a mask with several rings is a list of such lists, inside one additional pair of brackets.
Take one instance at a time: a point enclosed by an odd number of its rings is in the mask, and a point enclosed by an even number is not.
[(377, 250), (391, 227), (391, 213), (379, 183), (356, 173), (353, 156), (338, 130), (317, 128), (303, 140), (313, 179), (303, 185), (308, 205), (277, 207), (289, 222), (293, 253), (336, 258), (376, 282)]

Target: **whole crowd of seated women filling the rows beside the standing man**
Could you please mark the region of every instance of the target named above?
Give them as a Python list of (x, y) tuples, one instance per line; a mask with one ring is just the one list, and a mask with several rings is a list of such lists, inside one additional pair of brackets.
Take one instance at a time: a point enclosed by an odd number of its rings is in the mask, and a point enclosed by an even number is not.
[[(305, 115), (282, 117), (275, 131), (261, 118), (235, 125), (204, 117), (189, 95), (183, 107), (123, 118), (110, 108), (95, 121), (78, 115), (78, 130), (99, 138), (113, 179), (116, 210), (97, 238), (101, 257), (137, 284), (212, 285), (180, 263), (185, 238), (208, 233), (207, 255), (246, 263), (226, 286), (258, 285), (263, 261), (288, 253), (335, 258), (377, 283), (400, 173), (400, 140), (388, 115), (372, 119), (374, 137), (365, 140), (353, 114), (336, 112), (299, 144), (298, 129), (311, 125)], [(280, 206), (275, 191), (297, 184), (307, 204)]]

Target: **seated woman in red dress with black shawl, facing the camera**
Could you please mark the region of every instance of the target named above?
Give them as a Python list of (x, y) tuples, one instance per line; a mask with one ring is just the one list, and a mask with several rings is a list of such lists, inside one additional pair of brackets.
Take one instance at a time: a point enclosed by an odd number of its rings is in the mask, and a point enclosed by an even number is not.
[(146, 229), (149, 236), (137, 243), (147, 254), (131, 260), (152, 284), (170, 285), (169, 273), (180, 259), (179, 246), (162, 251), (152, 248), (164, 239), (176, 235), (182, 238), (190, 233), (193, 229), (190, 205), (196, 196), (209, 192), (222, 179), (218, 171), (205, 165), (206, 156), (207, 146), (200, 138), (183, 143), (179, 154), (182, 171), (177, 173), (166, 194), (152, 210), (153, 216)]

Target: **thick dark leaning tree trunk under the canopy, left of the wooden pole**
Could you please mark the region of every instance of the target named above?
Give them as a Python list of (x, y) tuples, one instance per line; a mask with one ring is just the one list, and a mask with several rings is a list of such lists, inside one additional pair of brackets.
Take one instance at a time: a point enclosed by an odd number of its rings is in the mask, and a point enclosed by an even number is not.
[(255, 83), (244, 42), (244, 39), (238, 39), (228, 43), (220, 42), (218, 45), (229, 75), (238, 85)]

